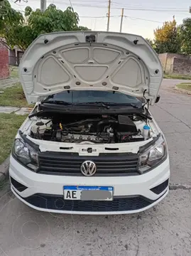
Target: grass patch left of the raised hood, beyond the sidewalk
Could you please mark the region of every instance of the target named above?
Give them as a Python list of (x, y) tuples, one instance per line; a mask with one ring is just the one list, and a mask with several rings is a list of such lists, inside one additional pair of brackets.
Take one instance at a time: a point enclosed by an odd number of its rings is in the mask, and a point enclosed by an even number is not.
[(33, 105), (28, 105), (26, 102), (26, 97), (20, 83), (6, 88), (3, 91), (4, 92), (0, 94), (1, 106), (33, 107)]

